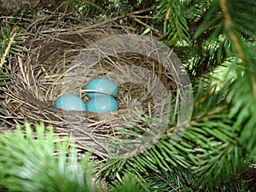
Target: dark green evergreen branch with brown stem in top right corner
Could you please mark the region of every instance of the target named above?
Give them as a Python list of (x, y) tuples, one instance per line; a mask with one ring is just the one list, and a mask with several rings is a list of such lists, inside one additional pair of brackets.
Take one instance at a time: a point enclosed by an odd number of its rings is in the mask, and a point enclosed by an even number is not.
[[(221, 0), (208, 4), (204, 7), (207, 11), (197, 21), (200, 26), (195, 31), (195, 49), (191, 52), (194, 61), (193, 66), (189, 67), (198, 73), (196, 77), (201, 77), (201, 71), (212, 72), (212, 67), (218, 67), (237, 54), (244, 62), (248, 62), (249, 58), (245, 53), (247, 45), (243, 36), (247, 34), (252, 37), (256, 31), (256, 22), (250, 19), (256, 16), (255, 2)], [(237, 14), (238, 12), (241, 13)], [(212, 43), (215, 48), (211, 50)], [(205, 45), (209, 51), (205, 51)], [(191, 70), (189, 67), (188, 70)], [(195, 75), (195, 72), (191, 73)]]

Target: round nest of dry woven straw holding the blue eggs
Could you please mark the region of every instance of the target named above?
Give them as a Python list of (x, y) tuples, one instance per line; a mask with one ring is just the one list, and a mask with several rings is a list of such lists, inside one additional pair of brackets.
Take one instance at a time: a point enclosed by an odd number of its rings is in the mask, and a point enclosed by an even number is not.
[[(158, 61), (137, 52), (137, 49), (147, 48), (146, 42), (140, 42), (142, 48), (134, 47), (133, 52), (130, 47), (125, 53), (108, 53), (109, 49), (110, 52), (117, 49), (109, 43), (109, 38), (133, 34), (131, 27), (108, 21), (72, 23), (71, 20), (47, 18), (27, 28), (26, 41), (20, 44), (21, 54), (9, 61), (9, 73), (13, 77), (1, 100), (1, 129), (15, 129), (17, 123), (24, 125), (25, 120), (29, 123), (43, 121), (46, 127), (53, 125), (60, 136), (72, 135), (80, 149), (93, 148), (95, 154), (106, 157), (111, 148), (108, 148), (105, 136), (124, 137), (119, 136), (115, 128), (126, 126), (129, 129), (131, 122), (146, 127), (145, 115), (141, 113), (141, 117), (137, 117), (135, 111), (143, 111), (149, 116), (155, 113), (160, 117), (163, 103), (157, 102), (163, 101), (161, 96), (168, 90), (175, 100), (178, 82)], [(106, 49), (96, 49), (94, 44), (106, 38), (108, 40), (101, 43), (107, 44), (104, 45)], [(122, 50), (127, 45), (124, 44), (121, 40)], [(108, 78), (118, 84), (119, 110), (90, 113), (55, 108), (56, 98), (64, 93), (76, 94), (88, 102), (81, 90), (96, 77)], [(157, 79), (164, 85), (164, 90), (155, 83)]]

